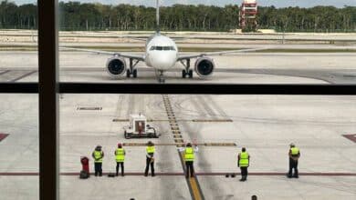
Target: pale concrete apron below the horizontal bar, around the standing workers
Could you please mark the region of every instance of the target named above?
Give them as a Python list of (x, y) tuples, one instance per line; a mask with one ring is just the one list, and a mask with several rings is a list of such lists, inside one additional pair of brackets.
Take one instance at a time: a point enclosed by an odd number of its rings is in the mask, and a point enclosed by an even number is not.
[[(197, 173), (237, 173), (236, 155), (246, 146), (251, 155), (250, 173), (285, 173), (288, 144), (300, 148), (300, 173), (356, 174), (355, 143), (343, 137), (356, 133), (355, 96), (315, 95), (169, 95), (184, 141), (236, 143), (231, 146), (200, 146)], [(125, 140), (122, 126), (131, 113), (142, 112), (150, 119), (167, 117), (162, 95), (68, 95), (60, 96), (60, 172), (77, 173), (81, 155), (90, 155), (95, 145), (105, 152), (103, 170), (115, 167), (113, 151)], [(9, 134), (0, 142), (2, 199), (37, 199), (37, 176), (21, 176), (38, 170), (36, 95), (0, 95), (0, 132)], [(79, 110), (99, 106), (101, 110)], [(231, 119), (232, 122), (198, 123), (192, 119)], [(158, 143), (173, 143), (167, 121), (155, 121)], [(142, 173), (144, 146), (127, 146), (125, 171)], [(183, 173), (174, 145), (156, 146), (156, 171)], [(11, 156), (9, 156), (11, 155)], [(11, 158), (9, 158), (11, 157)], [(90, 170), (93, 171), (92, 160)], [(354, 199), (355, 175), (249, 175), (246, 183), (224, 175), (198, 175), (205, 199)], [(109, 178), (60, 176), (61, 199), (191, 199), (183, 175), (126, 175)]]

